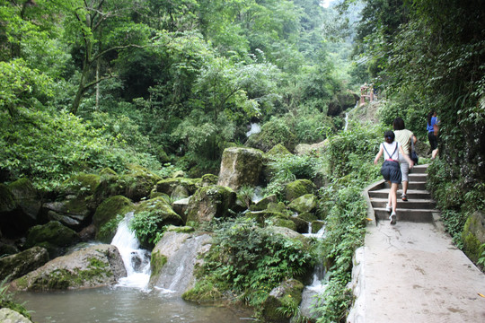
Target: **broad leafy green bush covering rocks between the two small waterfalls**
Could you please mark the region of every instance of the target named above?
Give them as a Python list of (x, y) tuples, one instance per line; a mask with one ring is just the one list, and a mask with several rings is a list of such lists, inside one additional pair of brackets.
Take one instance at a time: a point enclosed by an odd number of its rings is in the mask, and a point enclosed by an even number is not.
[(300, 277), (313, 266), (308, 247), (300, 240), (260, 228), (239, 218), (222, 223), (204, 264), (204, 273), (221, 290), (242, 294), (257, 306), (281, 281)]

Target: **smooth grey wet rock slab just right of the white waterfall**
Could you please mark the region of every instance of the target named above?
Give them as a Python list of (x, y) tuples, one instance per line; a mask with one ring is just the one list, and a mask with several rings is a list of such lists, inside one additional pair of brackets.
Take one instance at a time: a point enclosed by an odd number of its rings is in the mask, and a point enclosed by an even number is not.
[(176, 295), (187, 292), (195, 284), (194, 268), (210, 249), (211, 237), (194, 235), (172, 228), (152, 250), (150, 285), (170, 290)]

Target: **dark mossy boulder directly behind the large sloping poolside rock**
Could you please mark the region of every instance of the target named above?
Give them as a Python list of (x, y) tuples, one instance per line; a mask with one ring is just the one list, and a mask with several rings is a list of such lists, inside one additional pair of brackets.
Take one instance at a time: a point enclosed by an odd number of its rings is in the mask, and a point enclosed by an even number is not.
[(57, 221), (51, 221), (31, 227), (27, 232), (25, 247), (43, 247), (48, 249), (50, 258), (55, 258), (78, 241), (79, 236), (74, 230)]

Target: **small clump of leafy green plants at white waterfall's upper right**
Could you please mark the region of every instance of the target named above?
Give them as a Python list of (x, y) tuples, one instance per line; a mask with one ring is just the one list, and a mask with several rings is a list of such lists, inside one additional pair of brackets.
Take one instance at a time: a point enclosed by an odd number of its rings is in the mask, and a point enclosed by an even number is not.
[(129, 229), (135, 232), (142, 245), (154, 246), (162, 239), (166, 229), (161, 224), (162, 219), (156, 212), (142, 211), (134, 214), (129, 222)]

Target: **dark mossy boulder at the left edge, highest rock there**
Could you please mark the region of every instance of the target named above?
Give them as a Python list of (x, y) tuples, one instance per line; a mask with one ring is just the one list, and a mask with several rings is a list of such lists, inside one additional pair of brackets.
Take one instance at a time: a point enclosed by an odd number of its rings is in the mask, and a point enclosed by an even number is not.
[(0, 184), (0, 229), (6, 236), (25, 234), (39, 223), (40, 196), (29, 179)]

